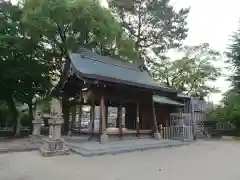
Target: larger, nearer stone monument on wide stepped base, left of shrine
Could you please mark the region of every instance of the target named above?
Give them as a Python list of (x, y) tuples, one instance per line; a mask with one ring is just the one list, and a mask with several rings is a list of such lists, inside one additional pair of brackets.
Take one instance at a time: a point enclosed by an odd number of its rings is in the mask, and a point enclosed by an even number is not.
[(49, 137), (44, 140), (40, 152), (43, 156), (59, 156), (70, 153), (66, 142), (61, 139), (61, 125), (63, 119), (60, 115), (52, 116), (49, 119)]

